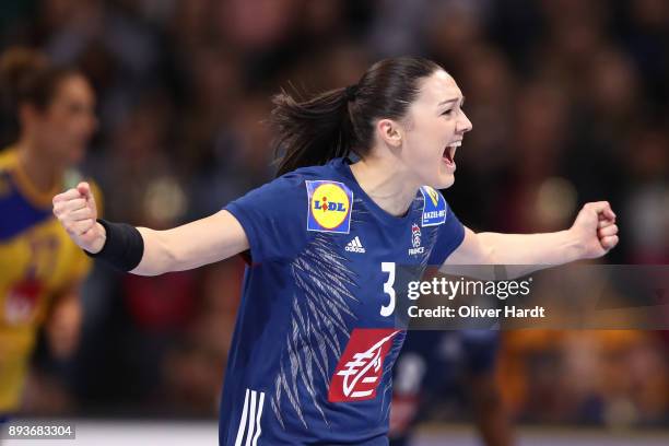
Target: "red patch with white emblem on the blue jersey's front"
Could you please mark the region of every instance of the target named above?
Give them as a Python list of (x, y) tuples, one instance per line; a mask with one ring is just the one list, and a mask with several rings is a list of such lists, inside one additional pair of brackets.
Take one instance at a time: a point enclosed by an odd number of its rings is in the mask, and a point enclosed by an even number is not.
[(330, 402), (364, 401), (376, 398), (384, 374), (384, 360), (400, 330), (355, 328), (339, 359), (330, 382)]

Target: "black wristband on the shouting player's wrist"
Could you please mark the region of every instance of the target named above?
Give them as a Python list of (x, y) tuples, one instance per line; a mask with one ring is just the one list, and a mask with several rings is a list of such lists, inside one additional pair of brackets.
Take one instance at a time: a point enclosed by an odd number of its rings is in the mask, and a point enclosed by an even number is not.
[(126, 223), (111, 223), (97, 219), (107, 233), (103, 248), (91, 254), (84, 249), (89, 257), (101, 259), (121, 271), (131, 271), (142, 260), (144, 255), (144, 239), (137, 227)]

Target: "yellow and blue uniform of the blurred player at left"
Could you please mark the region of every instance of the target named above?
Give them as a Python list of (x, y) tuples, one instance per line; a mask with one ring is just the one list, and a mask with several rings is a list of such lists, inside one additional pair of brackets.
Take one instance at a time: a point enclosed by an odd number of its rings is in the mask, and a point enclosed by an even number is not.
[(67, 172), (54, 190), (40, 192), (16, 150), (0, 152), (0, 414), (19, 408), (36, 334), (54, 297), (91, 268), (51, 213), (54, 195), (79, 180), (77, 172)]

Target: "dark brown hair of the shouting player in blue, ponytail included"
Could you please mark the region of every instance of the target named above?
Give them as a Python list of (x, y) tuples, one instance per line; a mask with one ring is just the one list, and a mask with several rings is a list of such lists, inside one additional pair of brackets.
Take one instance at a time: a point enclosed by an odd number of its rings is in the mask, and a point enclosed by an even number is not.
[(277, 176), (351, 152), (364, 156), (374, 143), (376, 120), (403, 118), (419, 81), (441, 69), (427, 59), (399, 57), (374, 63), (355, 85), (307, 98), (282, 91), (272, 99), (270, 117)]

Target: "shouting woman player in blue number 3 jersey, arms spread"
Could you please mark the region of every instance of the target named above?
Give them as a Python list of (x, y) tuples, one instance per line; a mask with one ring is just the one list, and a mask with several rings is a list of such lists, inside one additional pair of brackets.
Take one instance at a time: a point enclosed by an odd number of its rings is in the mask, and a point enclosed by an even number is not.
[(618, 244), (606, 201), (555, 233), (463, 226), (438, 192), (454, 184), (472, 129), (463, 99), (430, 60), (382, 60), (355, 85), (274, 96), (278, 177), (211, 216), (167, 231), (97, 220), (86, 183), (57, 195), (54, 213), (86, 253), (134, 274), (247, 254), (221, 445), (387, 445), (404, 338), (394, 317), (398, 266), (538, 269)]

